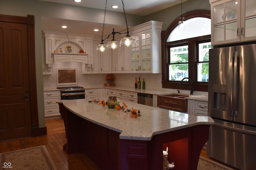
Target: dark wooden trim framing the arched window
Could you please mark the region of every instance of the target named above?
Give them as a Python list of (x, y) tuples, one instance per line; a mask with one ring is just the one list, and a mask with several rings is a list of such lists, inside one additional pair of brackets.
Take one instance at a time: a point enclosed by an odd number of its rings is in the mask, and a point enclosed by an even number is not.
[[(176, 18), (176, 20), (174, 20), (169, 27), (165, 30), (161, 32), (161, 46), (162, 46), (162, 88), (172, 88), (172, 89), (182, 89), (182, 90), (190, 90), (190, 82), (184, 82), (182, 84), (182, 86), (179, 86), (179, 82), (173, 82), (168, 80), (168, 46), (170, 46), (170, 44), (173, 45), (174, 42), (166, 42), (166, 40), (168, 39), (170, 33), (172, 32), (172, 30), (178, 26), (178, 21), (180, 20), (179, 16), (178, 18)], [(188, 20), (190, 18), (195, 18), (195, 17), (204, 17), (204, 18), (209, 18), (211, 19), (210, 16), (210, 10), (194, 10), (194, 11), (190, 11), (187, 12), (185, 14), (183, 14), (183, 17), (185, 18), (185, 20)], [(182, 44), (182, 43), (187, 43), (189, 46), (193, 45), (195, 46), (195, 44), (191, 44), (191, 43), (196, 43), (197, 39), (196, 38), (192, 38), (194, 41), (188, 41), (189, 39), (183, 39), (183, 40), (179, 40), (179, 41), (175, 41), (175, 43), (177, 44)], [(201, 41), (202, 39), (210, 39), (210, 35), (205, 35), (200, 37), (200, 39), (198, 39), (198, 41)], [(188, 56), (194, 56), (196, 57), (194, 54), (196, 54), (196, 49), (192, 49), (192, 51), (188, 51)], [(192, 63), (193, 59), (192, 57), (189, 57), (188, 59), (189, 63)], [(194, 84), (194, 90), (196, 91), (204, 91), (204, 92), (208, 92), (208, 83), (206, 82), (197, 82), (196, 79), (196, 65), (195, 63), (190, 65), (188, 68), (188, 72), (190, 74), (190, 78), (193, 80), (193, 84)]]

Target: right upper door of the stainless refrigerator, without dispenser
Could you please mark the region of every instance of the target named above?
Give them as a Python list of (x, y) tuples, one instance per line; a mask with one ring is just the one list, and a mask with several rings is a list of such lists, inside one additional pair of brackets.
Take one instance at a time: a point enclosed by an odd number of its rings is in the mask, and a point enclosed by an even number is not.
[(256, 44), (236, 46), (238, 51), (238, 86), (234, 121), (256, 126)]

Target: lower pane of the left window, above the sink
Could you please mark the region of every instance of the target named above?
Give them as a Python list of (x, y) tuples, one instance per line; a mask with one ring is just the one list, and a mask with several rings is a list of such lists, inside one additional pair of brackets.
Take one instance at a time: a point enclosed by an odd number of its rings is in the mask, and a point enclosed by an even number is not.
[(180, 81), (188, 77), (188, 64), (169, 64), (169, 80)]

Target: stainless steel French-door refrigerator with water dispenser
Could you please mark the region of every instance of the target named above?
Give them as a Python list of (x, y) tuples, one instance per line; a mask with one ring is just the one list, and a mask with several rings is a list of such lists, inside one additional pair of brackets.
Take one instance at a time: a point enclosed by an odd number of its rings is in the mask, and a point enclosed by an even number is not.
[(256, 44), (210, 49), (207, 155), (256, 169)]

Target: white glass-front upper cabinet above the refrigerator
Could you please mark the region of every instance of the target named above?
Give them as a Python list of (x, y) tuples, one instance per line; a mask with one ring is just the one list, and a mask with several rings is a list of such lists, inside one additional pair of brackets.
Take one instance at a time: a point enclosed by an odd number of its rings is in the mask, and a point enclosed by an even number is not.
[(256, 39), (255, 0), (210, 0), (212, 45)]

